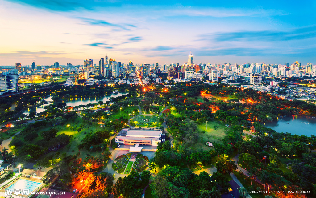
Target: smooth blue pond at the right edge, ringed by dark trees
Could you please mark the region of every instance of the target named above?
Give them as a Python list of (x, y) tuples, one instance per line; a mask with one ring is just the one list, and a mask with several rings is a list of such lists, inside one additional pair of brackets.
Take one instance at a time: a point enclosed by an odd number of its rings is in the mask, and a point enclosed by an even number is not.
[(316, 117), (305, 115), (280, 116), (278, 121), (265, 123), (265, 127), (269, 127), (277, 132), (289, 132), (292, 135), (316, 135)]

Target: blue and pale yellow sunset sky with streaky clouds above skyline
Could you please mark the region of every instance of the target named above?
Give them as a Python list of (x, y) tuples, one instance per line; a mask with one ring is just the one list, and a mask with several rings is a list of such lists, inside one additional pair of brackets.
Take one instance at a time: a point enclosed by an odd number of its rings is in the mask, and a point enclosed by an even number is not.
[(316, 64), (316, 1), (0, 0), (0, 65)]

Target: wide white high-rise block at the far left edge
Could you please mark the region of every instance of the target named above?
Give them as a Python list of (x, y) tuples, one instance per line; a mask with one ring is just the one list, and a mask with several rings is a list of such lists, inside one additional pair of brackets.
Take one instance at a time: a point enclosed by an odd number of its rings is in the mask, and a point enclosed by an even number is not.
[(18, 91), (18, 74), (12, 74), (9, 72), (0, 71), (0, 91), (5, 92), (17, 92)]

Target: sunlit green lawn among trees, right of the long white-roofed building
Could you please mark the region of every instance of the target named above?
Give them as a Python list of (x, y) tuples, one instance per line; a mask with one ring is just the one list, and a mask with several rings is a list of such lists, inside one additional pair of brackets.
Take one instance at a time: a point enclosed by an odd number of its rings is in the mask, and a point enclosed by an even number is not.
[[(214, 126), (218, 126), (216, 130), (214, 129)], [(197, 140), (197, 143), (194, 145), (195, 149), (202, 148), (203, 150), (210, 150), (213, 149), (213, 147), (209, 147), (205, 145), (205, 142), (209, 141), (212, 143), (218, 143), (222, 144), (222, 139), (225, 137), (225, 132), (229, 130), (227, 126), (225, 126), (222, 123), (218, 123), (217, 121), (208, 121), (207, 122), (207, 129), (206, 129), (206, 123), (198, 125), (199, 131), (205, 131), (205, 133), (200, 133), (199, 139)], [(219, 139), (217, 139), (219, 138)]]

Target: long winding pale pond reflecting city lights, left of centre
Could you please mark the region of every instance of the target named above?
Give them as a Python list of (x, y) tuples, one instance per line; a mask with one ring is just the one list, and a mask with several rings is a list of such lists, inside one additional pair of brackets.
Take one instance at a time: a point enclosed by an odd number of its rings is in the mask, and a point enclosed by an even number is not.
[[(75, 106), (79, 106), (79, 105), (87, 105), (89, 103), (98, 103), (99, 101), (103, 101), (104, 103), (106, 101), (108, 101), (111, 97), (118, 97), (118, 96), (123, 96), (128, 94), (128, 92), (119, 92), (117, 94), (111, 94), (111, 95), (105, 95), (103, 97), (90, 97), (90, 98), (70, 98), (67, 99), (65, 101), (63, 101), (64, 103), (67, 104), (67, 106), (71, 106), (71, 107), (75, 107)], [(52, 96), (46, 96), (44, 98), (41, 98), (47, 102), (51, 102), (52, 101)], [(61, 101), (60, 101), (61, 102)], [(23, 114), (28, 115), (30, 112), (35, 111), (36, 113), (40, 113), (45, 111), (44, 107), (50, 105), (50, 103), (48, 104), (44, 104), (41, 106), (37, 106), (37, 107), (31, 107), (31, 108), (27, 108), (22, 110)]]

